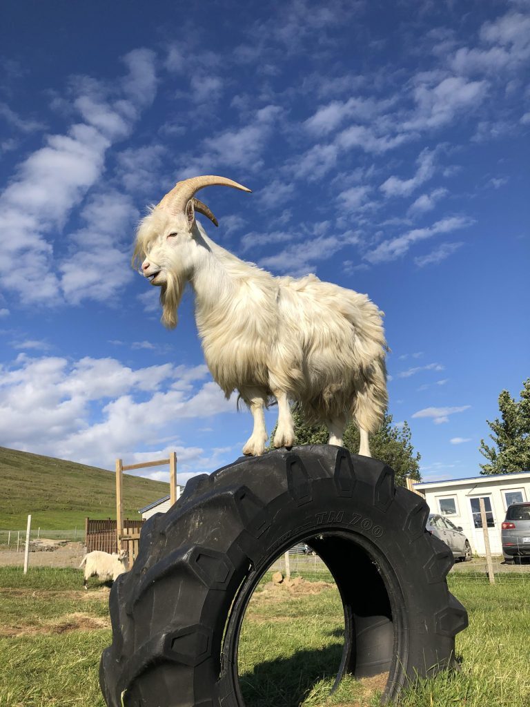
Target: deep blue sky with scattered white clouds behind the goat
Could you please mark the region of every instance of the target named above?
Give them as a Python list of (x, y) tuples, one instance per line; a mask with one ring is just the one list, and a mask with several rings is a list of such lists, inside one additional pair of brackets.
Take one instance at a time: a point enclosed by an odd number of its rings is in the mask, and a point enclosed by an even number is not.
[(478, 474), (529, 375), (528, 1), (10, 0), (0, 59), (0, 445), (176, 449), (181, 483), (240, 455), (191, 294), (168, 332), (130, 267), (146, 205), (219, 174), (253, 194), (201, 192), (208, 233), (368, 293), (423, 478)]

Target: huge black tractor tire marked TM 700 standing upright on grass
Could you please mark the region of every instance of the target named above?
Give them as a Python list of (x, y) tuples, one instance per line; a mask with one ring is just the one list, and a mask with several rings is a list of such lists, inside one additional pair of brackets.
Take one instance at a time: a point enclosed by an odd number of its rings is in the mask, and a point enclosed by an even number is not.
[(109, 707), (240, 707), (240, 625), (273, 559), (310, 542), (334, 575), (345, 617), (337, 684), (389, 671), (383, 699), (455, 665), (468, 624), (449, 593), (446, 544), (428, 506), (382, 462), (308, 445), (242, 457), (188, 481), (143, 526), (132, 570), (110, 593), (112, 645), (100, 685)]

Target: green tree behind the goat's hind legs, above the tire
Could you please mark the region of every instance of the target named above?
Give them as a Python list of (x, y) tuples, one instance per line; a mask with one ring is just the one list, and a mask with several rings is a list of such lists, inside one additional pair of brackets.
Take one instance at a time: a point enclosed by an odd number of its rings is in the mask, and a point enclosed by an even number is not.
[[(328, 432), (324, 425), (307, 425), (302, 414), (297, 409), (293, 410), (295, 421), (295, 444), (326, 444)], [(273, 448), (274, 433), (271, 433), (269, 448)], [(406, 422), (403, 426), (392, 426), (392, 416), (385, 412), (379, 430), (370, 437), (370, 450), (375, 459), (379, 459), (396, 472), (396, 484), (406, 486), (407, 477), (413, 481), (421, 481), (420, 452), (414, 453), (411, 443), (411, 428)], [(359, 451), (359, 431), (350, 423), (344, 432), (344, 446), (352, 454)]]

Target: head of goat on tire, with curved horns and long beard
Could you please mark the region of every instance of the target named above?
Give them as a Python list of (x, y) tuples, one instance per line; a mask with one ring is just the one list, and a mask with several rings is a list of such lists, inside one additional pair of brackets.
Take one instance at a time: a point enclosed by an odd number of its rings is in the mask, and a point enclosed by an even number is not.
[(170, 328), (177, 325), (177, 308), (201, 248), (195, 212), (208, 216), (218, 226), (208, 206), (194, 197), (199, 189), (211, 185), (250, 191), (237, 182), (213, 175), (177, 182), (160, 204), (150, 209), (136, 233), (133, 265), (141, 269), (152, 285), (161, 288), (162, 321)]

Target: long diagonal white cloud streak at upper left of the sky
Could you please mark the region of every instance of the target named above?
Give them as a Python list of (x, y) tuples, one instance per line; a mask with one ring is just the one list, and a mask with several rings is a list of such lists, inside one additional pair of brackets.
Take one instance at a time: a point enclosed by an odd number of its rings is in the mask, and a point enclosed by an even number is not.
[[(71, 125), (66, 134), (47, 136), (45, 146), (18, 165), (15, 177), (0, 196), (4, 286), (18, 292), (23, 303), (61, 300), (61, 265), (54, 257), (52, 237), (64, 228), (73, 207), (100, 179), (112, 141), (128, 134), (139, 110), (153, 100), (153, 52), (136, 49), (124, 57), (124, 63), (129, 73), (112, 90), (91, 79), (78, 80), (81, 93), (74, 106), (86, 122)], [(107, 97), (109, 93), (112, 99)], [(95, 267), (90, 257), (67, 257), (71, 267), (66, 269), (75, 269), (81, 276), (85, 267)], [(110, 267), (122, 262), (116, 250), (108, 258)], [(114, 287), (107, 279), (106, 296), (122, 285), (117, 279)], [(100, 288), (92, 281), (85, 283), (84, 291), (86, 296), (102, 298)]]

